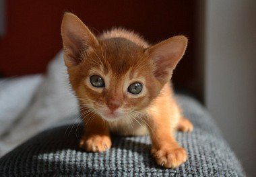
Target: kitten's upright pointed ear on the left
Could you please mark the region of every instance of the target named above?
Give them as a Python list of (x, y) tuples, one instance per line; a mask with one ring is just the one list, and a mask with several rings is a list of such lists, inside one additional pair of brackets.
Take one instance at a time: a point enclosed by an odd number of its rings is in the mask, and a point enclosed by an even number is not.
[(73, 13), (65, 13), (61, 23), (61, 36), (67, 67), (80, 62), (80, 52), (98, 46), (98, 40), (88, 27)]

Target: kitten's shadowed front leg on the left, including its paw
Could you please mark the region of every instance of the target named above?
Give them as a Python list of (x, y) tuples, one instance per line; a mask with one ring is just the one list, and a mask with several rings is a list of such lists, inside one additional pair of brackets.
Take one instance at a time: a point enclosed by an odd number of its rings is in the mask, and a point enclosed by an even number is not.
[[(90, 120), (91, 119), (91, 120)], [(84, 118), (84, 135), (79, 147), (88, 152), (104, 152), (111, 147), (111, 139), (107, 125), (98, 115)]]

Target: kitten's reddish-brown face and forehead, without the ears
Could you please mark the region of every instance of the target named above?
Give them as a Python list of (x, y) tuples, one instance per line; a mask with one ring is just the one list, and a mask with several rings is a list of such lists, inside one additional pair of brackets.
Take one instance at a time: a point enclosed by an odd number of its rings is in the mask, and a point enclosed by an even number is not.
[(71, 84), (80, 104), (107, 121), (134, 117), (160, 91), (152, 60), (129, 40), (99, 41), (97, 48), (89, 48), (81, 57), (82, 62), (69, 72)]

